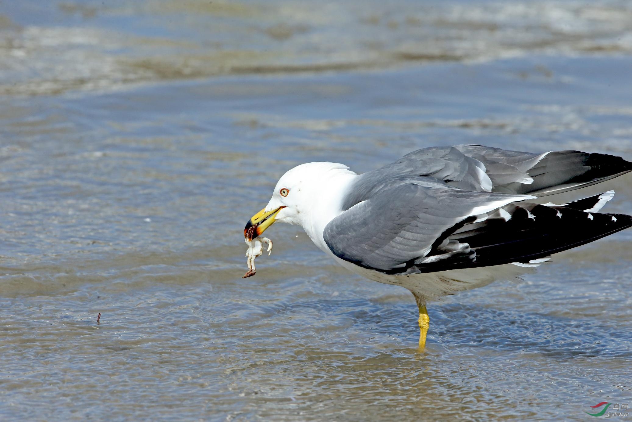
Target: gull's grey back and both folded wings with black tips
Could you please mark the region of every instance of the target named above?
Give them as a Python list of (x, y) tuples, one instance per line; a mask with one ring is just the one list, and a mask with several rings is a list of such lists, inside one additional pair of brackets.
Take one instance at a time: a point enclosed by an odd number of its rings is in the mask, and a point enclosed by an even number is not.
[(358, 176), (324, 239), (339, 258), (391, 274), (529, 264), (623, 230), (632, 220), (595, 213), (610, 192), (566, 206), (511, 202), (628, 171), (632, 163), (623, 158), (581, 151), (419, 149)]

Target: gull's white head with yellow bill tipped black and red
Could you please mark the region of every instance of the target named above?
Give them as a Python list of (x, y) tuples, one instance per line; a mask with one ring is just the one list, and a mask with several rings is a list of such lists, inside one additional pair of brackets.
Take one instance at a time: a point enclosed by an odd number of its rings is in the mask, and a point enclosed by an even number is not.
[(344, 164), (329, 162), (301, 164), (287, 171), (274, 187), (267, 206), (246, 224), (246, 239), (261, 235), (275, 221), (302, 225), (308, 232), (315, 218), (333, 218), (340, 213), (344, 192), (355, 176)]

